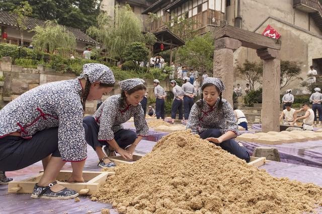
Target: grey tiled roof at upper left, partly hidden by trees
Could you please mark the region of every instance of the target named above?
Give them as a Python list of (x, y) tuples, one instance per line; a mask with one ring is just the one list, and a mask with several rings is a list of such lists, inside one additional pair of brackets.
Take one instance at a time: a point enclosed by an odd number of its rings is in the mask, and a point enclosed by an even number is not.
[[(11, 14), (6, 11), (0, 11), (0, 25), (17, 28), (15, 16), (16, 16), (15, 14)], [(27, 17), (26, 19), (26, 27), (28, 31), (34, 29), (36, 26), (44, 26), (44, 25), (45, 25), (45, 21), (43, 20), (35, 19), (31, 17)], [(74, 34), (74, 36), (76, 37), (76, 40), (86, 42), (86, 43), (91, 43), (91, 44), (98, 44), (94, 39), (86, 35), (81, 30), (67, 27), (67, 26), (65, 27), (67, 28), (68, 31)]]

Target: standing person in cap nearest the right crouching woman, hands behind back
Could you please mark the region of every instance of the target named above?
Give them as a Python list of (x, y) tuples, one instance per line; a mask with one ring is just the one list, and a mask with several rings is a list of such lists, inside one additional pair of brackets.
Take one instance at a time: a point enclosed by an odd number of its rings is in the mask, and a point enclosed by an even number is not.
[(189, 118), (189, 114), (192, 108), (192, 105), (194, 104), (193, 97), (197, 95), (197, 91), (195, 87), (189, 82), (189, 77), (184, 77), (185, 83), (181, 86), (184, 97), (183, 97), (183, 108), (184, 108), (184, 115), (185, 120), (184, 124), (186, 123), (186, 120)]

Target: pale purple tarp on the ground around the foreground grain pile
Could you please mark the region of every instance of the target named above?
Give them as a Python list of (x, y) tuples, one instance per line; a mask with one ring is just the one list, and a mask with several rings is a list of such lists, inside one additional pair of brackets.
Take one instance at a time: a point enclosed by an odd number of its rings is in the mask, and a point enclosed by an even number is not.
[[(153, 132), (153, 131), (152, 131)], [(156, 135), (163, 135), (155, 132)], [(166, 133), (168, 134), (168, 133)], [(243, 142), (246, 146), (249, 143)], [(315, 142), (317, 143), (317, 142)], [(156, 142), (142, 140), (136, 147), (135, 152), (145, 154), (152, 150)], [(299, 143), (303, 146), (303, 143)], [(322, 143), (321, 143), (322, 144)], [(251, 146), (251, 145), (249, 145)], [(255, 146), (255, 145), (253, 145)], [(266, 146), (266, 145), (265, 145)], [(312, 148), (313, 149), (313, 148)], [(322, 150), (321, 150), (322, 151)], [(100, 171), (97, 166), (98, 158), (95, 151), (88, 146), (88, 158), (86, 160), (86, 171)], [(294, 165), (290, 163), (269, 162), (260, 168), (266, 169), (268, 173), (277, 177), (289, 177), (291, 180), (296, 179), (302, 182), (312, 182), (322, 186), (322, 169), (308, 166)], [(32, 166), (14, 172), (7, 172), (8, 176), (15, 176), (16, 180), (23, 180), (33, 176), (42, 169), (41, 162), (35, 163)], [(63, 168), (70, 170), (70, 164), (67, 163)], [(111, 204), (91, 201), (89, 196), (79, 196), (81, 201), (74, 202), (70, 200), (46, 200), (33, 199), (30, 194), (8, 193), (7, 186), (0, 185), (0, 201), (1, 204), (6, 204), (0, 208), (0, 213), (100, 213), (102, 208), (112, 208)], [(117, 213), (114, 209), (111, 213)], [(322, 213), (322, 212), (321, 212)]]

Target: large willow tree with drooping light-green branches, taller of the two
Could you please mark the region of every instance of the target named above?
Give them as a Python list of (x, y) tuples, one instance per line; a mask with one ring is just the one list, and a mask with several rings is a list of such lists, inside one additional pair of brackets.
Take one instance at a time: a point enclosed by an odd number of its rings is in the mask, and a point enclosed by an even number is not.
[(97, 17), (97, 26), (91, 26), (87, 34), (102, 43), (109, 57), (118, 58), (121, 62), (126, 45), (144, 41), (142, 22), (129, 5), (116, 6), (112, 16), (101, 13)]

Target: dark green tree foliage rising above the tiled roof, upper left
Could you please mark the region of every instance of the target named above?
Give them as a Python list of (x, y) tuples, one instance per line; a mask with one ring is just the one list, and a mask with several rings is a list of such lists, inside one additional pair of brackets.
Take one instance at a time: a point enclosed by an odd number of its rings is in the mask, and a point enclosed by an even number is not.
[[(19, 0), (0, 0), (0, 10), (13, 11), (21, 3)], [(31, 17), (41, 20), (56, 20), (66, 25), (86, 31), (96, 24), (100, 12), (100, 0), (28, 0), (32, 7)]]

